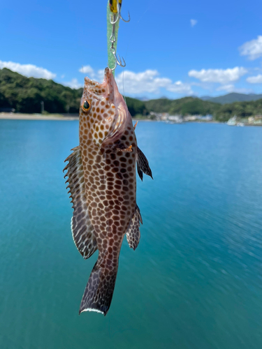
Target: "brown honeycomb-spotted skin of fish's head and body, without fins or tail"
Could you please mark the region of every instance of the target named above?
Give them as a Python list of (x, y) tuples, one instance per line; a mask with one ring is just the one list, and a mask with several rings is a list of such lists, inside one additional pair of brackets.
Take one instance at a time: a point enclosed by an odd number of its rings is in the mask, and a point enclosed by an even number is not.
[[(87, 209), (99, 248), (99, 265), (113, 268), (118, 265), (122, 239), (136, 209), (137, 151), (131, 117), (125, 125), (117, 119), (114, 83), (108, 79), (103, 87), (85, 79), (82, 103), (88, 100), (91, 108), (88, 112), (80, 109), (79, 133)], [(121, 126), (122, 132), (114, 138)], [(131, 151), (124, 151), (130, 146)]]

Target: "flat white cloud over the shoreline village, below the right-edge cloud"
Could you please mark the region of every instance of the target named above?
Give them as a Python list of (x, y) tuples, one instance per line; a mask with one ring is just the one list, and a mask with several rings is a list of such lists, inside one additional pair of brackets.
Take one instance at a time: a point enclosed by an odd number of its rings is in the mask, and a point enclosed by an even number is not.
[(228, 69), (202, 69), (190, 70), (189, 76), (196, 77), (202, 82), (219, 82), (226, 84), (238, 80), (242, 75), (247, 73), (247, 69), (236, 66)]

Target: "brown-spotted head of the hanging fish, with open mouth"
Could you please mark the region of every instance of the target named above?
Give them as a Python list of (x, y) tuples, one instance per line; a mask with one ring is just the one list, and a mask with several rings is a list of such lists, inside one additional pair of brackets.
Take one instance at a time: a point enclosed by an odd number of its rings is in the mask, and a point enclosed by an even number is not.
[(114, 144), (122, 137), (131, 115), (119, 93), (110, 68), (105, 68), (100, 84), (85, 77), (80, 105), (80, 135), (99, 146)]

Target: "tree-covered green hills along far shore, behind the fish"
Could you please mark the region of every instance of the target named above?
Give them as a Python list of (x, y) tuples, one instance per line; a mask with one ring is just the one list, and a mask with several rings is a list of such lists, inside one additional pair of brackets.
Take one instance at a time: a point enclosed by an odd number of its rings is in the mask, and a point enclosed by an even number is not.
[[(0, 69), (0, 108), (11, 107), (16, 112), (38, 113), (41, 112), (43, 101), (47, 112), (77, 113), (81, 96), (82, 89), (71, 89), (52, 80), (24, 77), (7, 68)], [(227, 121), (234, 115), (249, 117), (262, 114), (262, 99), (221, 105), (195, 97), (175, 100), (159, 98), (151, 101), (126, 97), (126, 104), (132, 117), (145, 117), (150, 112), (168, 112), (171, 115), (212, 114), (218, 121)]]

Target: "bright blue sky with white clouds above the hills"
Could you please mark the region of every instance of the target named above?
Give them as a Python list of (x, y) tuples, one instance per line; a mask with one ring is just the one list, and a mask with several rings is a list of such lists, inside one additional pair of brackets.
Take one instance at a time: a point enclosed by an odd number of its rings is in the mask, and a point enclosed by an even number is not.
[[(103, 1), (0, 3), (0, 68), (80, 87), (107, 65)], [(123, 0), (117, 52), (127, 96), (262, 93), (262, 1)], [(80, 73), (84, 67), (85, 74)]]

